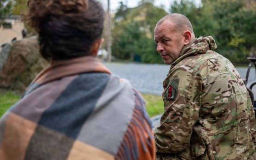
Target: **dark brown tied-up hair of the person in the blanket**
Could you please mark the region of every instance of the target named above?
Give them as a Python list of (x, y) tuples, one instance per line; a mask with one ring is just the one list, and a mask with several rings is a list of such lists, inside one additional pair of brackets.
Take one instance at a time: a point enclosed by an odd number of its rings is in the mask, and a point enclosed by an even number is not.
[(102, 37), (104, 10), (96, 0), (29, 0), (24, 16), (38, 32), (45, 59), (69, 59), (90, 55)]

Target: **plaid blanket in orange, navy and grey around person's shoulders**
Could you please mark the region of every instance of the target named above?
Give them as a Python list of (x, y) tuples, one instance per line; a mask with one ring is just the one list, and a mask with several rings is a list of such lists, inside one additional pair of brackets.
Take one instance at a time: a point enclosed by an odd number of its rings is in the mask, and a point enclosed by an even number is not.
[(144, 101), (96, 58), (55, 60), (0, 119), (0, 160), (153, 160)]

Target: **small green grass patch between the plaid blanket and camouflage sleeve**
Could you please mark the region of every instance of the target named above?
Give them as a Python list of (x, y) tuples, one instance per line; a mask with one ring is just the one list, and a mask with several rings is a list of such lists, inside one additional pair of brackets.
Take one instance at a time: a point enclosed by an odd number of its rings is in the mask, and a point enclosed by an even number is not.
[(164, 112), (164, 102), (162, 96), (154, 96), (148, 94), (142, 94), (146, 101), (147, 113), (150, 117), (160, 115)]

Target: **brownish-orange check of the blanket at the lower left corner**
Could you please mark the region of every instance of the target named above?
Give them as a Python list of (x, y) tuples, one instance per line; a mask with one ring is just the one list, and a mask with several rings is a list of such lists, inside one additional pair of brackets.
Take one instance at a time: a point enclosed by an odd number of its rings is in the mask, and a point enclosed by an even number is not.
[(0, 148), (0, 159), (24, 160), (26, 148), (36, 127), (36, 123), (10, 113), (6, 122), (3, 143)]

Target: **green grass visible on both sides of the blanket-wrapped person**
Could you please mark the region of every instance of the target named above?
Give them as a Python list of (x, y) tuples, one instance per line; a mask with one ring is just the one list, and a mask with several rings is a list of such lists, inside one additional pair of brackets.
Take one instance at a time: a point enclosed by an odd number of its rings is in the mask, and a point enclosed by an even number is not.
[[(0, 90), (0, 117), (19, 101), (21, 94), (15, 91)], [(150, 117), (164, 112), (162, 96), (142, 94), (146, 101), (147, 112)]]

